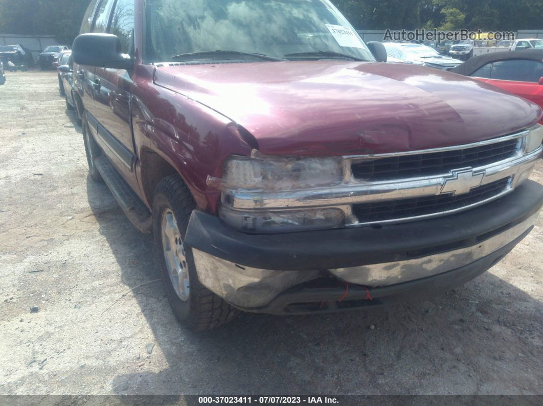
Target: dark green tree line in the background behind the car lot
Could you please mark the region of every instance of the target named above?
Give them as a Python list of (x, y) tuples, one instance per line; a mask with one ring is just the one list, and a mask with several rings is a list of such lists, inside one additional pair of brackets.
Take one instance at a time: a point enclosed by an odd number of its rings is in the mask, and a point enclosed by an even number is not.
[[(194, 0), (198, 1), (198, 0)], [(247, 0), (257, 1), (257, 0)], [(332, 0), (357, 29), (543, 29), (542, 0)], [(90, 0), (0, 0), (0, 33), (70, 45)]]

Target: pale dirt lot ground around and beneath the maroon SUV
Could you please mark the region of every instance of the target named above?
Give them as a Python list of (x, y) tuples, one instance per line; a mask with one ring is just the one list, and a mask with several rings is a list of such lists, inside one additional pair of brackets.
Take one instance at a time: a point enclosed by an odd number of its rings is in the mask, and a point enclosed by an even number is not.
[(543, 394), (543, 216), (431, 300), (193, 333), (148, 238), (87, 177), (56, 74), (8, 73), (0, 117), (1, 394)]

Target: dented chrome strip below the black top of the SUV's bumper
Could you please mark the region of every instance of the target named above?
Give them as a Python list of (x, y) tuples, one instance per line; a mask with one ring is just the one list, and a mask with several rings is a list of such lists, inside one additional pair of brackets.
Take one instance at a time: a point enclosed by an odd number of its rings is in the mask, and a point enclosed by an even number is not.
[[(427, 278), (469, 265), (507, 246), (529, 230), (538, 215), (539, 212), (475, 246), (412, 260), (327, 269), (327, 271), (346, 282), (369, 287), (389, 286)], [(195, 248), (192, 252), (199, 281), (220, 297), (241, 307), (265, 306), (288, 288), (323, 275), (321, 270), (251, 268), (220, 259)]]

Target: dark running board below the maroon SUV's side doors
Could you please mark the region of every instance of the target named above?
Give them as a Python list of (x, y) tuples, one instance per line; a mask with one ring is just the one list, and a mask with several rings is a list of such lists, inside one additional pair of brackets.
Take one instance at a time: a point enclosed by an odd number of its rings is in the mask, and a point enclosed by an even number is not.
[(128, 220), (142, 233), (150, 233), (153, 228), (151, 212), (115, 169), (110, 160), (102, 155), (94, 159), (94, 166), (102, 175), (105, 184), (108, 185), (109, 190), (123, 209), (124, 214), (127, 215)]

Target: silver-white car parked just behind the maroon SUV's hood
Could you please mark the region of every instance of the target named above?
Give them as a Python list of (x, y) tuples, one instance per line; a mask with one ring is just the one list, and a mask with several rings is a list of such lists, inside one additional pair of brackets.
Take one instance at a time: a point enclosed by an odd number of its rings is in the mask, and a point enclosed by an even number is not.
[(450, 70), (462, 63), (450, 56), (440, 55), (438, 51), (426, 45), (414, 42), (383, 42), (387, 50), (388, 61), (402, 61), (431, 68)]

